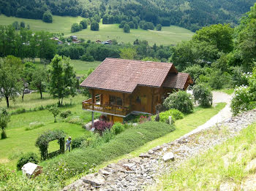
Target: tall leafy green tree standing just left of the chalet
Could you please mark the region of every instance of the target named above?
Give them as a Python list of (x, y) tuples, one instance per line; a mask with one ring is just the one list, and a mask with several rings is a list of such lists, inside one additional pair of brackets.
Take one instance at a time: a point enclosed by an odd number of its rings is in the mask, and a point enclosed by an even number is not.
[(70, 58), (55, 55), (50, 63), (48, 74), (50, 95), (59, 99), (59, 106), (63, 98), (69, 95), (75, 96), (77, 79), (70, 64)]

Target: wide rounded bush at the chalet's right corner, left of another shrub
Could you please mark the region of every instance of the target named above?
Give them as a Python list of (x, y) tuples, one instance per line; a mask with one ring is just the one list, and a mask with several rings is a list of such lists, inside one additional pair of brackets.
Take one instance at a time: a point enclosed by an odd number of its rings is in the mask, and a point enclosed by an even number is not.
[(166, 109), (178, 109), (182, 113), (193, 112), (192, 96), (185, 91), (171, 93), (164, 101)]

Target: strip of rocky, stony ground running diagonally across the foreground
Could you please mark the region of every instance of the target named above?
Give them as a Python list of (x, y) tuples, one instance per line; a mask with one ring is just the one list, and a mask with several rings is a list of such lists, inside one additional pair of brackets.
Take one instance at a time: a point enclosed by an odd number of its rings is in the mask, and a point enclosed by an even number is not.
[(155, 147), (142, 153), (140, 157), (110, 164), (95, 174), (89, 174), (69, 184), (64, 190), (144, 190), (160, 174), (173, 171), (190, 157), (238, 135), (240, 130), (255, 120), (256, 110), (231, 117), (211, 128)]

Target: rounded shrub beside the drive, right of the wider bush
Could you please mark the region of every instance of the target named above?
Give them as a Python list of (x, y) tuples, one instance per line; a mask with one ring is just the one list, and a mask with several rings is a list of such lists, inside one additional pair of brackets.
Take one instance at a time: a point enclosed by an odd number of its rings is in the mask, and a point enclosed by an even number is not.
[(206, 85), (199, 84), (193, 87), (193, 95), (195, 101), (201, 106), (211, 106), (212, 105), (212, 93)]

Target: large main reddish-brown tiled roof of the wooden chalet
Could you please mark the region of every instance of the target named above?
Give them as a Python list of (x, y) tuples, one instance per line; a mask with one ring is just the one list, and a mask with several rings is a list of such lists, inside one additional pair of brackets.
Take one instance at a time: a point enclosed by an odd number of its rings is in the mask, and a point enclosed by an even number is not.
[[(170, 71), (173, 75), (178, 74), (173, 63), (106, 58), (80, 85), (132, 93), (138, 85), (161, 87)], [(183, 81), (177, 87), (182, 84)], [(173, 88), (177, 87), (173, 85)]]

